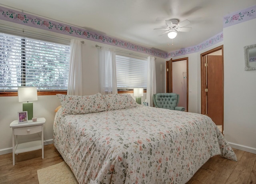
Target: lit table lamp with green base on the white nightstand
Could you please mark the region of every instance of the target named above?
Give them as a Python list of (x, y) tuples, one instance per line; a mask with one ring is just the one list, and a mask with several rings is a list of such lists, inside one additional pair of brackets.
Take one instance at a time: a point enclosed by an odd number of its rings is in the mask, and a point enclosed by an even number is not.
[(36, 87), (18, 87), (18, 100), (24, 102), (22, 104), (23, 111), (28, 111), (28, 120), (33, 117), (33, 102), (37, 100)]

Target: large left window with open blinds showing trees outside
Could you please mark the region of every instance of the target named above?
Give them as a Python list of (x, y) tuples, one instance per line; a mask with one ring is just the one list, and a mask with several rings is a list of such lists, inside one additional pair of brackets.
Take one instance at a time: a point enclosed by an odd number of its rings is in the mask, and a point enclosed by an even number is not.
[(69, 45), (0, 33), (0, 91), (65, 91), (69, 61)]

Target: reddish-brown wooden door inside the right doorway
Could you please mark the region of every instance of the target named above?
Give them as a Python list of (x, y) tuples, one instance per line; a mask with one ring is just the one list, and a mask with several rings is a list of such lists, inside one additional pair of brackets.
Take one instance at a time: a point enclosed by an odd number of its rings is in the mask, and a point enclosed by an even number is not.
[(223, 124), (223, 62), (222, 55), (206, 56), (206, 114), (216, 125)]

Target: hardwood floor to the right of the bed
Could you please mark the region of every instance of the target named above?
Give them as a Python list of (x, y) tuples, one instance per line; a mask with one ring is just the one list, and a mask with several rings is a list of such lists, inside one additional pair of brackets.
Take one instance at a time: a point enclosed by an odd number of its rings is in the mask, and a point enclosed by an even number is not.
[(186, 184), (256, 184), (256, 154), (233, 150), (238, 162), (214, 156)]

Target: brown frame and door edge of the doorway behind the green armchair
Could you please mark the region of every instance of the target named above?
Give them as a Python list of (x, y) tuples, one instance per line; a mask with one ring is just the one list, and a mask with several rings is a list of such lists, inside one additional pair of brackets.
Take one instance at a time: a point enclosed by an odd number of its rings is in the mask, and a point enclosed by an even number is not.
[[(180, 59), (173, 59), (166, 61), (166, 93), (172, 93), (172, 62), (186, 60), (187, 63), (187, 107), (186, 111), (188, 112), (188, 57), (183, 57)], [(169, 89), (169, 90), (168, 90)]]

